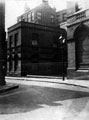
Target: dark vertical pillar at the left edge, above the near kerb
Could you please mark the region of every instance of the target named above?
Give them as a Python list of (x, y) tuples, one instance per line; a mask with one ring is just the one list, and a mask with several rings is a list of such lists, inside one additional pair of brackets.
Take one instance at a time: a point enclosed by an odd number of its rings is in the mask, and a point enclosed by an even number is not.
[(0, 86), (6, 84), (5, 1), (0, 0)]

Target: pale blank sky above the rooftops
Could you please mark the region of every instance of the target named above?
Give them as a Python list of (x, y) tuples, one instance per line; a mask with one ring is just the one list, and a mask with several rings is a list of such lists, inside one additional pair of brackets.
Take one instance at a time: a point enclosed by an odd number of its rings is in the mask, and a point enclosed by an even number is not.
[[(55, 7), (57, 11), (66, 8), (68, 0), (48, 0), (51, 7)], [(70, 0), (71, 1), (71, 0)], [(77, 0), (81, 1), (82, 0)], [(24, 13), (25, 3), (32, 9), (42, 3), (42, 0), (6, 0), (5, 1), (5, 29), (14, 25), (17, 22), (17, 17)]]

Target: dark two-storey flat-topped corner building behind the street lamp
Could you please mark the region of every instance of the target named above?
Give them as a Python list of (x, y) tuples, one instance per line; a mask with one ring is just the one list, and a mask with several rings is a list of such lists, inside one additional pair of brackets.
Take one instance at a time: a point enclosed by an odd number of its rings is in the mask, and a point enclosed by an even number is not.
[(62, 49), (58, 39), (61, 34), (66, 38), (64, 29), (24, 21), (10, 27), (8, 29), (7, 75), (59, 76), (62, 74)]

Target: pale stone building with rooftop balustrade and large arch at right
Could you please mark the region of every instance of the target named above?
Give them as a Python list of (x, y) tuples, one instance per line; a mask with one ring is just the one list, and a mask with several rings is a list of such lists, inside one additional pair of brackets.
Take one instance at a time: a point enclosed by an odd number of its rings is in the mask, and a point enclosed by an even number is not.
[(89, 6), (67, 16), (68, 69), (67, 76), (89, 74)]

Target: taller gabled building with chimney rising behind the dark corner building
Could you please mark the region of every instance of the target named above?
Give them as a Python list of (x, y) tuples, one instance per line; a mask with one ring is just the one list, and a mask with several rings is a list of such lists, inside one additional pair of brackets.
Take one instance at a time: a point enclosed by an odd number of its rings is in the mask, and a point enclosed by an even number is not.
[(56, 10), (51, 8), (47, 0), (32, 10), (28, 10), (17, 18), (17, 22), (25, 21), (47, 26), (56, 26)]

